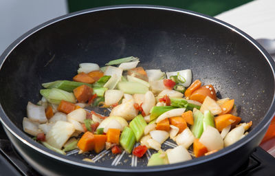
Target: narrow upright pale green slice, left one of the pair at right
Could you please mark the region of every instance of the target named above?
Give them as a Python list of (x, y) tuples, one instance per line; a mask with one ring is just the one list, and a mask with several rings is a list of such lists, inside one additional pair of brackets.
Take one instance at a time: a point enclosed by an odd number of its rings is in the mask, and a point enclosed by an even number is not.
[(197, 109), (194, 109), (193, 118), (194, 124), (191, 126), (191, 131), (196, 138), (199, 138), (203, 132), (203, 113)]

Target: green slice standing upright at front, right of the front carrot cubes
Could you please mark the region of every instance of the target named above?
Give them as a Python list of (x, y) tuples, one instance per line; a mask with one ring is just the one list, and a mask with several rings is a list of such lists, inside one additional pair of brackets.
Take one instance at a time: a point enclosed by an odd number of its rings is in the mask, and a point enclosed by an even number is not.
[(134, 144), (135, 134), (128, 126), (125, 126), (120, 135), (120, 145), (124, 148), (124, 150), (127, 153), (131, 153)]

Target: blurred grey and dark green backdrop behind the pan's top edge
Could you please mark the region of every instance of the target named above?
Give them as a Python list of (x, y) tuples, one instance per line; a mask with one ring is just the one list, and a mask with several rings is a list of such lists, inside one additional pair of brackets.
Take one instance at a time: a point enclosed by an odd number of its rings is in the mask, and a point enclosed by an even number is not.
[(0, 0), (0, 54), (19, 36), (69, 12), (121, 4), (165, 5), (215, 16), (252, 0)]

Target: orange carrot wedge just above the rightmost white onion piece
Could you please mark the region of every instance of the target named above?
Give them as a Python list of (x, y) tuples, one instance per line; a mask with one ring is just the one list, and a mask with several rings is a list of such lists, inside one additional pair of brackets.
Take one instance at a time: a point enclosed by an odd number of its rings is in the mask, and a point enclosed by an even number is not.
[(215, 126), (218, 131), (222, 131), (226, 126), (232, 124), (236, 125), (241, 121), (241, 118), (236, 117), (232, 114), (219, 115), (214, 118)]

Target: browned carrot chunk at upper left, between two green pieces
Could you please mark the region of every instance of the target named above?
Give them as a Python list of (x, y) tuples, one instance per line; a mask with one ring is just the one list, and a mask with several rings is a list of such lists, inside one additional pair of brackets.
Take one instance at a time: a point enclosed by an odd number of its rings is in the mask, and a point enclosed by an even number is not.
[(74, 96), (78, 102), (87, 102), (93, 96), (93, 89), (87, 85), (81, 85), (74, 89)]

